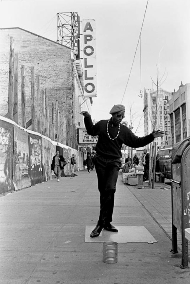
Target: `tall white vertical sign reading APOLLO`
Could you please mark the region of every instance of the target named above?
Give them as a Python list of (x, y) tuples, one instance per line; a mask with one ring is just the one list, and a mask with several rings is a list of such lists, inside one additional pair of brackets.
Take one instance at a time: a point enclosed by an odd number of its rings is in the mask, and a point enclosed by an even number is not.
[(95, 20), (82, 20), (84, 96), (97, 97)]

